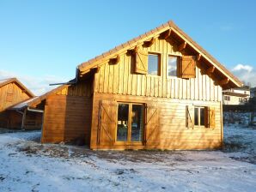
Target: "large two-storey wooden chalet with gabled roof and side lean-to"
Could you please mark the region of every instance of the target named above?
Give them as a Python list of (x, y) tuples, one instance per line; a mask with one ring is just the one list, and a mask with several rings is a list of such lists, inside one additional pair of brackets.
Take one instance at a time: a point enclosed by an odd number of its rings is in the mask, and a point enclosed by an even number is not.
[(42, 142), (209, 149), (222, 147), (222, 88), (241, 86), (168, 21), (82, 63), (76, 79), (28, 105), (45, 111)]

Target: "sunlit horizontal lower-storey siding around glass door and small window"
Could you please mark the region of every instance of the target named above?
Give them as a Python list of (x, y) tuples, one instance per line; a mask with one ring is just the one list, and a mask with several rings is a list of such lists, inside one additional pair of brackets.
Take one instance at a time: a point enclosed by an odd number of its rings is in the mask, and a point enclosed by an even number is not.
[[(137, 102), (143, 104), (154, 104), (157, 106), (159, 126), (151, 135), (148, 144), (143, 145), (107, 145), (97, 143), (97, 131), (99, 129), (99, 108), (101, 100), (119, 102)], [(92, 149), (206, 149), (222, 146), (222, 113), (221, 102), (218, 101), (193, 101), (186, 99), (152, 99), (143, 96), (124, 96), (108, 93), (94, 93), (94, 108), (91, 129)], [(204, 105), (214, 107), (216, 111), (215, 129), (186, 128), (186, 105)], [(111, 114), (110, 114), (111, 115)], [(156, 118), (155, 118), (156, 119)], [(150, 123), (154, 124), (154, 123)], [(147, 128), (153, 129), (153, 128)], [(114, 131), (113, 131), (114, 132)], [(101, 134), (103, 132), (101, 131)], [(107, 136), (107, 135), (101, 135)], [(114, 135), (113, 135), (114, 137)]]

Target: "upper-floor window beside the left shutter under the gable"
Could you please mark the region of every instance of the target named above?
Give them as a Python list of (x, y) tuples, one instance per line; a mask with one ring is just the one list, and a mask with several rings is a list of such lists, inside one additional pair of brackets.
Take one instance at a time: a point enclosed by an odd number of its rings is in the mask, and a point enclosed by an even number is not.
[(149, 53), (148, 56), (148, 74), (160, 75), (160, 55)]

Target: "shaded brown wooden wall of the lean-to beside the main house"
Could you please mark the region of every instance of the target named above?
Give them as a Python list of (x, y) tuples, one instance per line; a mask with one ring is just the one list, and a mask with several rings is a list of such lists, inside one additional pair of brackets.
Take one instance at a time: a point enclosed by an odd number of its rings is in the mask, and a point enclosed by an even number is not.
[(46, 99), (42, 142), (89, 143), (92, 111), (91, 82), (65, 87)]

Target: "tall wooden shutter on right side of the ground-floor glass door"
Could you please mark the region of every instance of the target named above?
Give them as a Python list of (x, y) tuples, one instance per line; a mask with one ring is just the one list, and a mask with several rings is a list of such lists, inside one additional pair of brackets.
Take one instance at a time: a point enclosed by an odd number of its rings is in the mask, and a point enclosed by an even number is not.
[(156, 145), (159, 141), (159, 111), (156, 104), (146, 105), (145, 144)]

